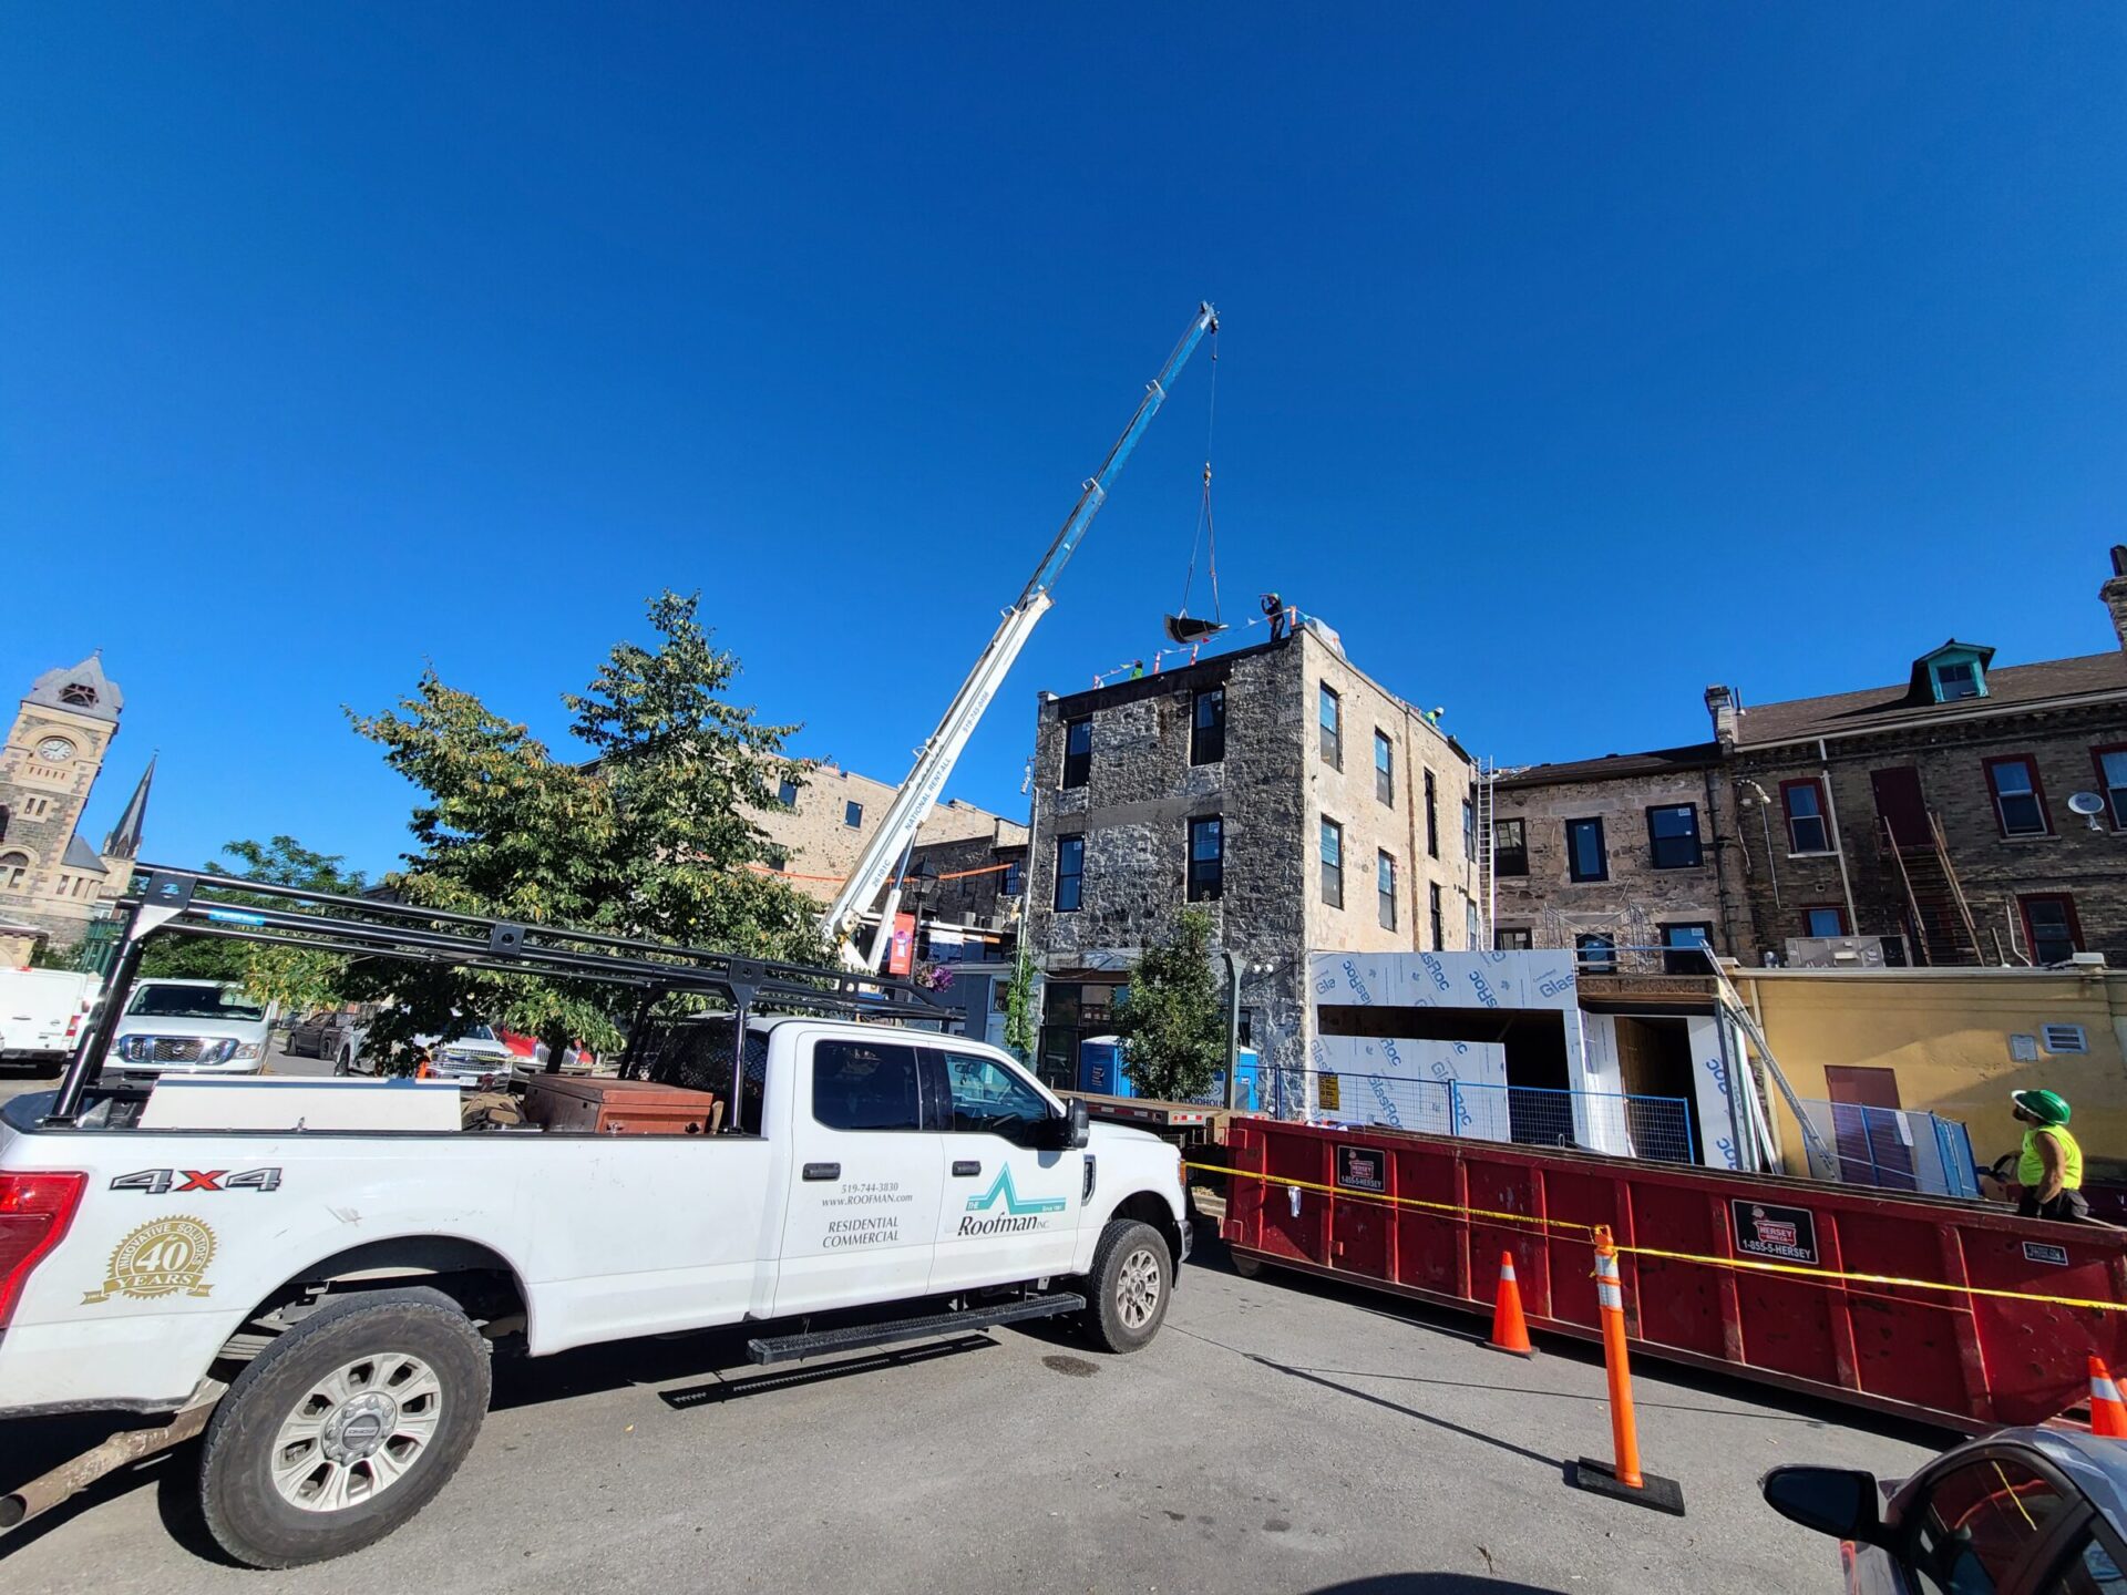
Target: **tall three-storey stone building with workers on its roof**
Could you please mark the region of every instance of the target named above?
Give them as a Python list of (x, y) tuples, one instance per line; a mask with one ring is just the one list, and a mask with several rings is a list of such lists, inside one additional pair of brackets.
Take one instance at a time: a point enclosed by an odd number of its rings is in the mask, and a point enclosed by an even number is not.
[(1187, 904), (1238, 968), (1246, 1044), (1300, 1068), (1314, 948), (1466, 948), (1470, 757), (1308, 619), (1251, 649), (1055, 698), (1036, 717), (1027, 944), (1040, 1070), (1068, 1080)]

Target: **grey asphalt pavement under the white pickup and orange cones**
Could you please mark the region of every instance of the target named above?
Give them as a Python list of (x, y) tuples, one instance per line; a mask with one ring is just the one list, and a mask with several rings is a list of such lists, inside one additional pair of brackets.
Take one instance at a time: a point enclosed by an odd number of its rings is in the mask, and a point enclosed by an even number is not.
[[(1648, 1361), (1644, 1465), (1687, 1501), (1661, 1516), (1563, 1482), (1610, 1444), (1589, 1348), (1504, 1357), (1474, 1319), (1242, 1280), (1217, 1246), (1134, 1357), (1029, 1325), (761, 1372), (744, 1336), (504, 1361), (459, 1476), (345, 1561), (221, 1563), (181, 1450), (0, 1535), (0, 1591), (1829, 1593), (1838, 1548), (1757, 1478), (1902, 1476), (1946, 1442)], [(0, 1489), (70, 1423), (0, 1425)]]

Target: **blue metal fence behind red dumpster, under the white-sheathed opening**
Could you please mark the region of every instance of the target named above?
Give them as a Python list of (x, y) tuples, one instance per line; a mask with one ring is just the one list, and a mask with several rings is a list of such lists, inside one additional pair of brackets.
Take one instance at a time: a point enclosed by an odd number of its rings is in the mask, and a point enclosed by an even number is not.
[(1389, 1125), (1661, 1163), (1699, 1161), (1685, 1097), (1280, 1068), (1263, 1070), (1261, 1093), (1263, 1112), (1317, 1125)]

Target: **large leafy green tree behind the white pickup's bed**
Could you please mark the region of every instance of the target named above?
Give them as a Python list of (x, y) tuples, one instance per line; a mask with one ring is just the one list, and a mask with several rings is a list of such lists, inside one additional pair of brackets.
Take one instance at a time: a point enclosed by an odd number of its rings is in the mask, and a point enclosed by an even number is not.
[[(749, 866), (768, 838), (744, 812), (766, 808), (800, 766), (795, 729), (759, 725), (723, 698), (738, 659), (717, 653), (698, 598), (649, 606), (659, 644), (621, 642), (596, 681), (562, 702), (589, 761), (557, 759), (434, 672), (381, 715), (351, 715), (406, 776), (415, 849), (387, 885), (411, 904), (649, 936), (757, 957), (825, 955), (817, 908)], [(538, 1036), (557, 1057), (570, 1040), (610, 1048), (632, 997), (596, 983), (398, 970), (391, 1012), (372, 1042), (406, 1059), (417, 1034), (451, 1036), (479, 1019)]]

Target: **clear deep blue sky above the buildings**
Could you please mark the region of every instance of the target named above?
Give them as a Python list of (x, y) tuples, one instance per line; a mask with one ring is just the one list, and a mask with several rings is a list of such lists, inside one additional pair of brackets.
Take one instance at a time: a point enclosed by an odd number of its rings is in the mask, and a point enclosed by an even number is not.
[[(659, 587), (898, 780), (1206, 296), (1227, 615), (1474, 751), (2112, 644), (2118, 6), (26, 4), (0, 89), (0, 691), (104, 649), (164, 859), (387, 868), (340, 706), (559, 736)], [(1157, 647), (1206, 376), (959, 795)]]

